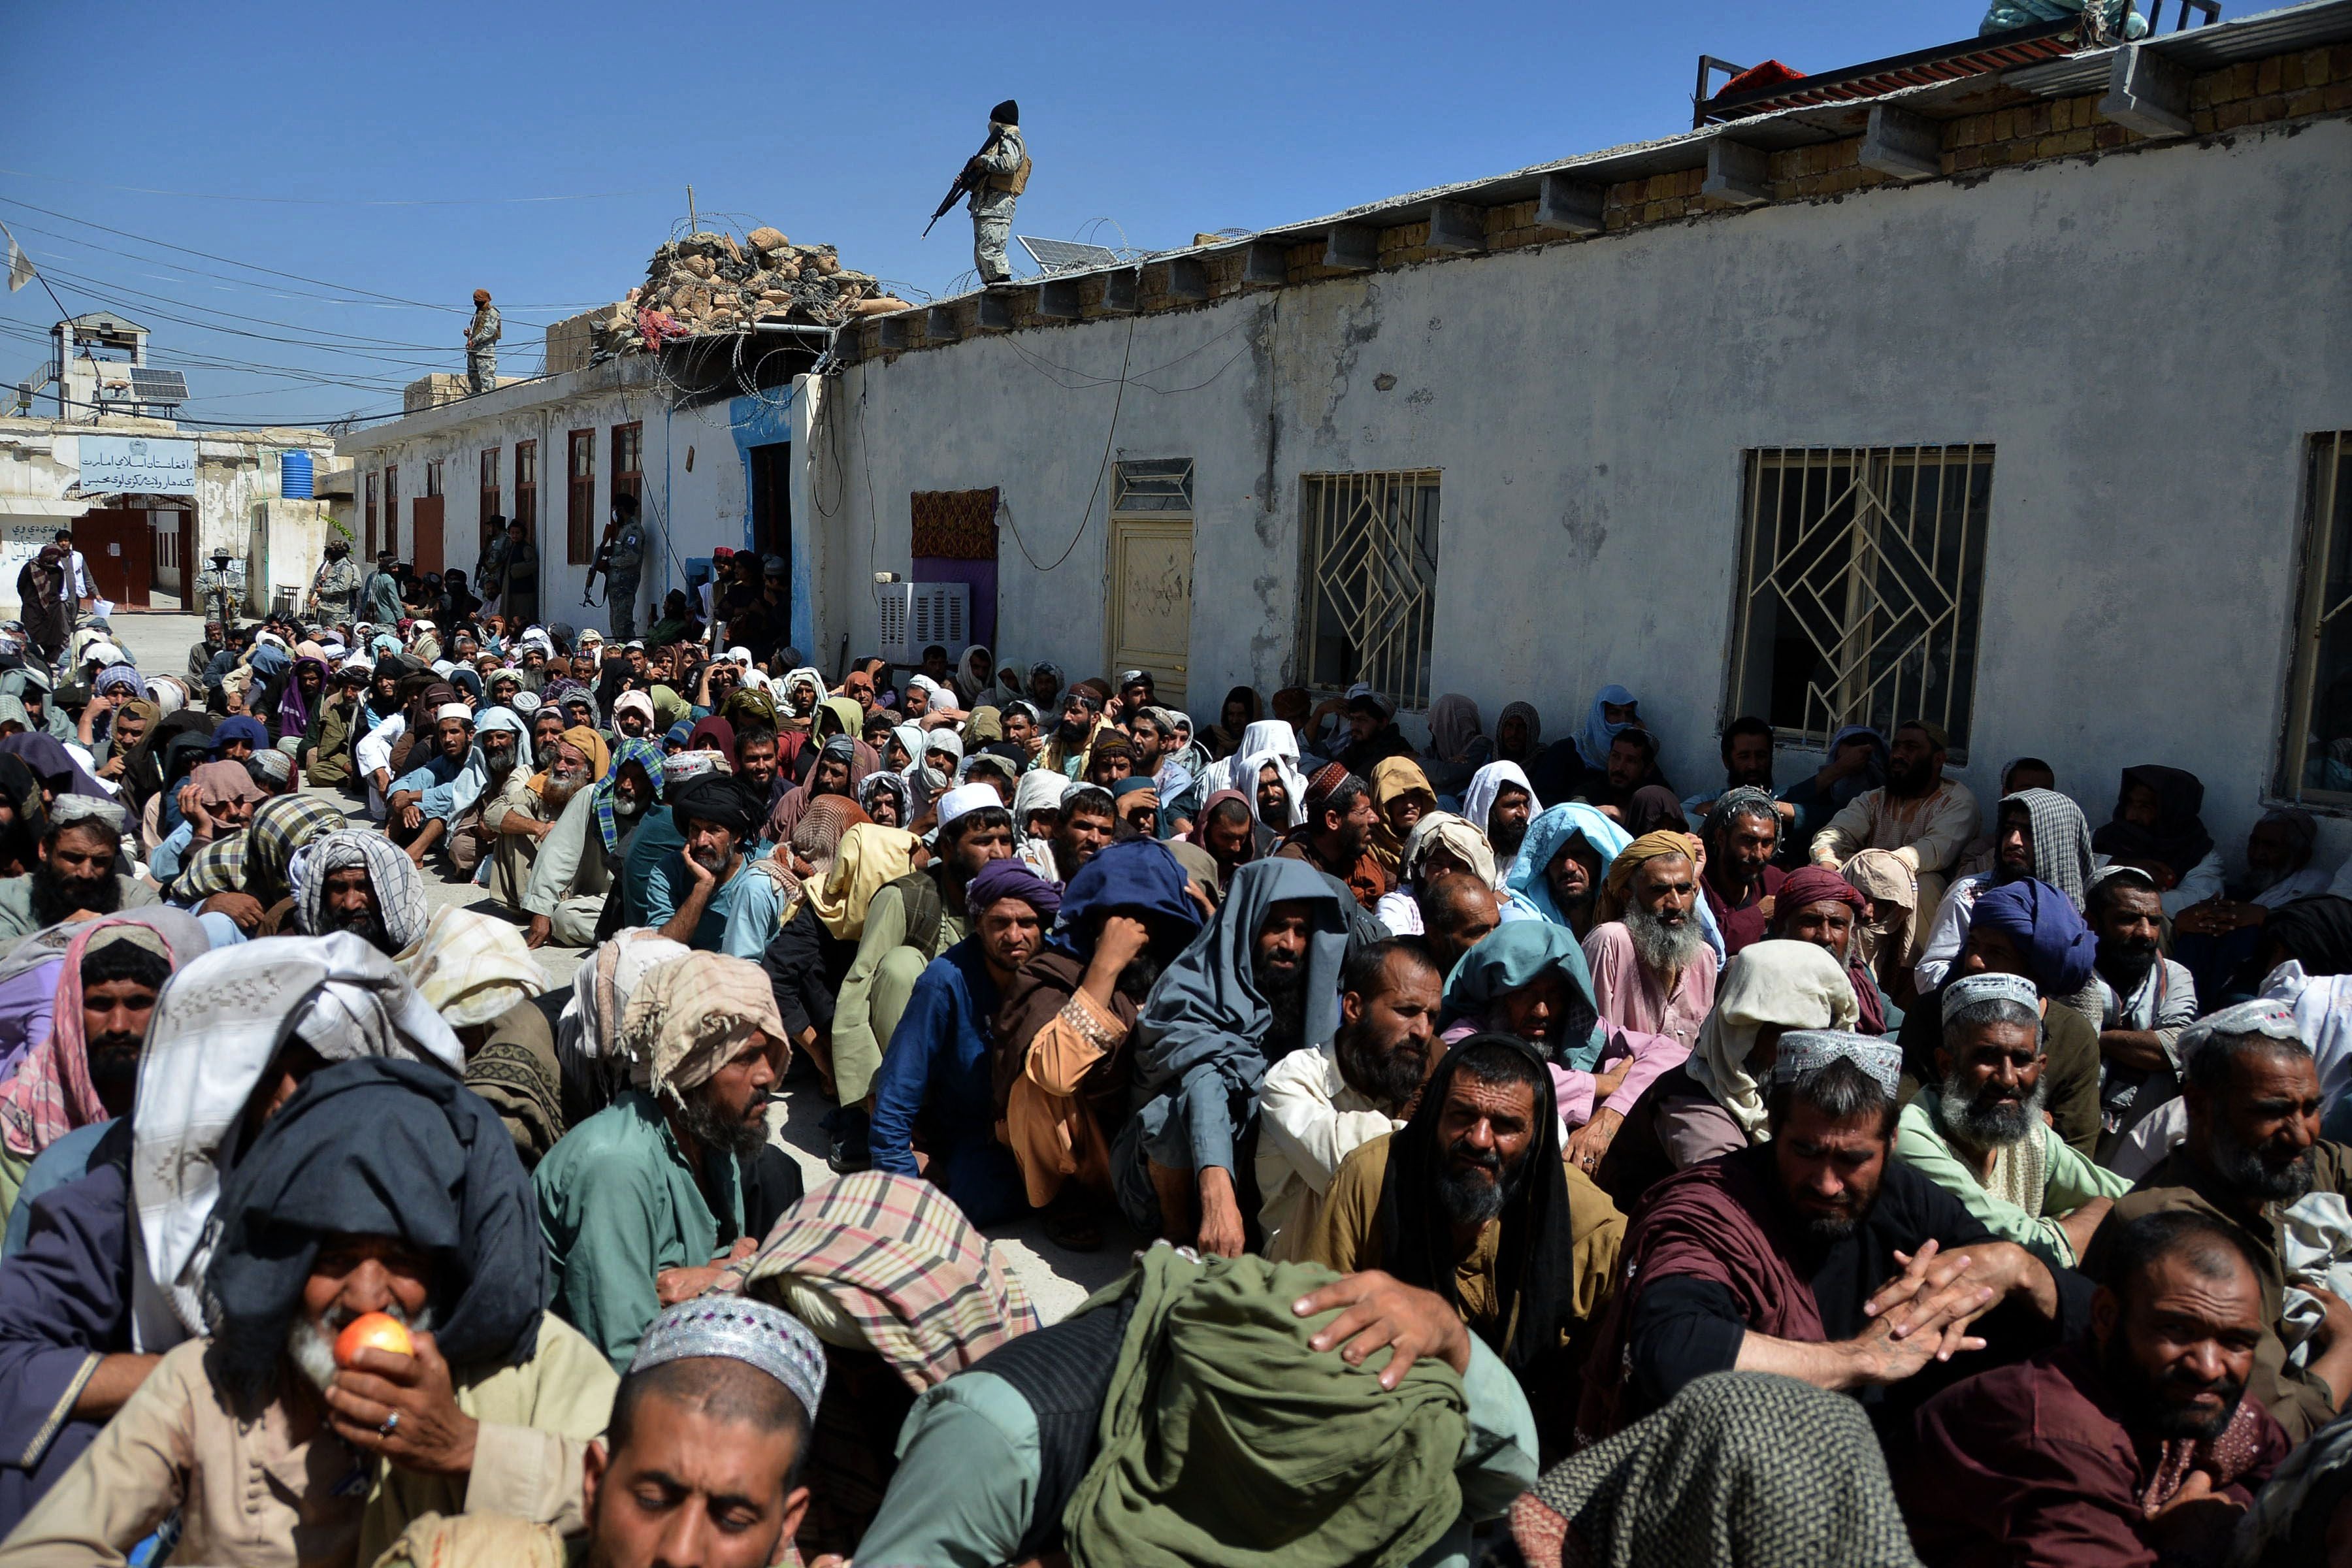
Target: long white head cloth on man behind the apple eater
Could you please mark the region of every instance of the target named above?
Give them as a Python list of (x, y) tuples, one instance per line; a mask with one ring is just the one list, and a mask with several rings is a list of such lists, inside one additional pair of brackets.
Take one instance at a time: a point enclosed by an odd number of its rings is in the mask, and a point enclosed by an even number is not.
[(440, 1013), (348, 931), (240, 943), (181, 966), (155, 999), (132, 1112), (132, 1342), (141, 1352), (205, 1333), (212, 1206), (242, 1154), (245, 1107), (294, 1039), (329, 1063), (400, 1056), (466, 1072)]

